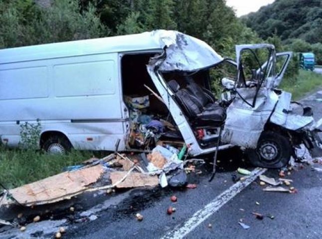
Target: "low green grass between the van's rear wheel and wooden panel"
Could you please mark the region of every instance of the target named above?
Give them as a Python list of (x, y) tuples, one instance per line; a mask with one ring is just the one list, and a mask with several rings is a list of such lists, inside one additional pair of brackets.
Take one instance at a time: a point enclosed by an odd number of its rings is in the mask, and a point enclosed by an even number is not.
[(0, 183), (9, 189), (19, 187), (61, 173), (63, 167), (77, 165), (90, 157), (85, 151), (49, 155), (34, 150), (0, 148)]

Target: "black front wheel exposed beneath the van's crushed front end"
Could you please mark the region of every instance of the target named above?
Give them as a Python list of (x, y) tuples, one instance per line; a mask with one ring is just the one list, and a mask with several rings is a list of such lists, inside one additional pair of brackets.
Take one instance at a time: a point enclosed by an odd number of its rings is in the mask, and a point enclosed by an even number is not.
[(288, 164), (292, 155), (290, 140), (272, 131), (264, 131), (256, 149), (246, 151), (249, 161), (256, 167), (282, 168)]

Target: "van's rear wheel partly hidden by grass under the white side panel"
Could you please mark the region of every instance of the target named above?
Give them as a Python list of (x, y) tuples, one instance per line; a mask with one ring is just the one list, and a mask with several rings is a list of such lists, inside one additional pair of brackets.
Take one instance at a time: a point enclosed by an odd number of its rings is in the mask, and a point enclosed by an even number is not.
[(50, 154), (65, 154), (72, 149), (72, 145), (66, 137), (53, 135), (43, 144), (43, 149)]

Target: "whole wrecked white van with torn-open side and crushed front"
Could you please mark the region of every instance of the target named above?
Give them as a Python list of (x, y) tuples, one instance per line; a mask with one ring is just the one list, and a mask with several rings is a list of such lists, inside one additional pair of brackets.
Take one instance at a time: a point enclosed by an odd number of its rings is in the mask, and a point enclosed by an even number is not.
[[(266, 49), (261, 64), (256, 51)], [(245, 74), (241, 54), (258, 68)], [(277, 56), (286, 60), (276, 72)], [(291, 53), (269, 44), (236, 46), (236, 61), (177, 31), (0, 50), (1, 142), (17, 146), (19, 124), (41, 122), (39, 145), (49, 152), (150, 151), (162, 144), (190, 156), (239, 146), (257, 166), (282, 167), (304, 143), (321, 154), (312, 110), (292, 113), (291, 94), (278, 90)], [(211, 92), (221, 64), (223, 94)], [(182, 151), (182, 150), (181, 150)]]

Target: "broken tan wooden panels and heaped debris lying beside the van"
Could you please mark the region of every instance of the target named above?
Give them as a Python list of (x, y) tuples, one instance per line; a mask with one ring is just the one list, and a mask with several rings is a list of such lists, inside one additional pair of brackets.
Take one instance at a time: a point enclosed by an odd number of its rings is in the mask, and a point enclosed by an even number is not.
[(88, 191), (105, 190), (110, 194), (114, 188), (154, 187), (159, 184), (161, 187), (182, 187), (186, 185), (186, 172), (194, 170), (193, 163), (203, 163), (203, 160), (180, 160), (179, 157), (186, 159), (187, 147), (174, 149), (157, 145), (148, 154), (115, 152), (101, 159), (93, 157), (81, 165), (64, 168), (65, 172), (60, 174), (8, 190), (1, 199), (1, 205), (43, 205), (71, 199)]

